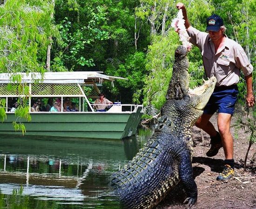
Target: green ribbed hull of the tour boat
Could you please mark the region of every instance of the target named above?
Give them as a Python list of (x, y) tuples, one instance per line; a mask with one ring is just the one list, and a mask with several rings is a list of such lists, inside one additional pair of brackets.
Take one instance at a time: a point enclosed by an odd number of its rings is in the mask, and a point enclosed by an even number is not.
[(0, 124), (0, 134), (22, 135), (14, 131), (13, 121), (26, 127), (27, 136), (56, 136), (121, 139), (134, 135), (142, 112), (38, 112), (31, 121), (19, 120), (13, 113)]

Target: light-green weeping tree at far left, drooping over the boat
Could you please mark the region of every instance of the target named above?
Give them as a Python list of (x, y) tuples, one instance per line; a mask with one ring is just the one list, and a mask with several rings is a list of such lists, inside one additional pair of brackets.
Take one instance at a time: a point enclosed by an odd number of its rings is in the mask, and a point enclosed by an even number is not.
[[(11, 73), (13, 85), (19, 95), (19, 110), (15, 111), (18, 118), (30, 120), (28, 86), (21, 83), (21, 77), (16, 72), (44, 73), (49, 36), (58, 36), (56, 27), (52, 24), (50, 14), (53, 7), (48, 0), (7, 0), (0, 7), (0, 73)], [(5, 98), (0, 99), (0, 120), (6, 118)], [(15, 130), (25, 131), (19, 121), (14, 121)]]

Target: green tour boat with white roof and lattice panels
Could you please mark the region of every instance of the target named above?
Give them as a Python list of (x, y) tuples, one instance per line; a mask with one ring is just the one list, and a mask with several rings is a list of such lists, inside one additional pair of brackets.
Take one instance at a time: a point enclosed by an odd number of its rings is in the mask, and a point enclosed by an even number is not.
[[(143, 114), (143, 106), (114, 102), (108, 111), (94, 111), (93, 100), (101, 93), (99, 87), (108, 81), (114, 85), (115, 79), (126, 79), (104, 75), (102, 72), (45, 72), (15, 73), (20, 83), (27, 86), (24, 93), (18, 93), (13, 74), (0, 73), (0, 99), (6, 99), (6, 119), (0, 124), (1, 134), (22, 135), (15, 131), (13, 121), (26, 127), (27, 136), (56, 136), (79, 138), (121, 139), (136, 133)], [(25, 93), (27, 91), (28, 93)], [(15, 98), (28, 97), (31, 107), (34, 99), (58, 98), (63, 104), (65, 98), (76, 101), (75, 111), (64, 111), (63, 105), (58, 112), (30, 110), (31, 121), (19, 118), (11, 105)], [(15, 101), (15, 100), (14, 100)]]

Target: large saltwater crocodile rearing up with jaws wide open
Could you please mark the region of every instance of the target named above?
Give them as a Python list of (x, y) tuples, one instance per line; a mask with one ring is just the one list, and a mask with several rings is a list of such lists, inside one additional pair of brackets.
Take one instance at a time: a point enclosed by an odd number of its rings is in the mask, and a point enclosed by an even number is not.
[(212, 77), (194, 90), (189, 89), (187, 50), (175, 51), (173, 76), (167, 101), (155, 133), (124, 168), (113, 174), (111, 185), (124, 208), (151, 209), (179, 181), (184, 185), (189, 206), (197, 200), (197, 186), (192, 174), (193, 141), (191, 128), (212, 94)]

